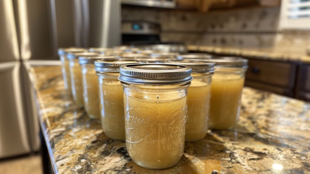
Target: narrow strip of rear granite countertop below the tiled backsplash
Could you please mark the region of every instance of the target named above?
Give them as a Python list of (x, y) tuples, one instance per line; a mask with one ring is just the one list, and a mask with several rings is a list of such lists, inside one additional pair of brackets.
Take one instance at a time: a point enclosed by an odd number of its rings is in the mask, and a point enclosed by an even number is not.
[(244, 56), (247, 58), (258, 58), (265, 60), (278, 61), (300, 61), (310, 63), (310, 56), (305, 53), (291, 52), (290, 50), (279, 49), (253, 49), (253, 48), (235, 48), (235, 47), (213, 47), (213, 46), (198, 46), (189, 45), (188, 51), (199, 51), (214, 54), (229, 54), (232, 56)]

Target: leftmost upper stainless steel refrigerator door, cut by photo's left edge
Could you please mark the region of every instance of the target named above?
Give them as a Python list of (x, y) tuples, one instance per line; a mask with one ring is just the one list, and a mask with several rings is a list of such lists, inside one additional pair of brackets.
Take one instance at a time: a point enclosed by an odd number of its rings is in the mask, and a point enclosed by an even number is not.
[(19, 59), (13, 3), (0, 1), (0, 63)]

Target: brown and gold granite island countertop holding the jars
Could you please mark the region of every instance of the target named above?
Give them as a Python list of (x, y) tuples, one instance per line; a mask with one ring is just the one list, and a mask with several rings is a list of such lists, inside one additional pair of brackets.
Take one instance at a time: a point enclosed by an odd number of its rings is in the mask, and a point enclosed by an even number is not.
[[(60, 66), (30, 71), (42, 133), (56, 173), (310, 173), (310, 104), (245, 87), (235, 131), (186, 143), (175, 166), (139, 167), (64, 91)], [(151, 155), (151, 154), (150, 154)]]

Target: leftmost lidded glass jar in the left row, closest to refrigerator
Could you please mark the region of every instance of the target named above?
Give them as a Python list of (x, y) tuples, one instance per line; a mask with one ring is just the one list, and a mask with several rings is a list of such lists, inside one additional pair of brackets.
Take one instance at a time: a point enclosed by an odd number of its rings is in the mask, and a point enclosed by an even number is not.
[(61, 71), (64, 79), (64, 89), (69, 91), (71, 95), (71, 79), (69, 70), (69, 60), (67, 59), (68, 52), (84, 52), (86, 49), (79, 47), (59, 48), (58, 55), (61, 61)]

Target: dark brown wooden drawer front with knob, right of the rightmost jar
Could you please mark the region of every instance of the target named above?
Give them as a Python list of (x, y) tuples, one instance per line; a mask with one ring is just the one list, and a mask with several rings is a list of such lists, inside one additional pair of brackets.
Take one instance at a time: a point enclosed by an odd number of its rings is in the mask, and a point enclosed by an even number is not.
[(280, 87), (294, 87), (296, 65), (286, 62), (249, 59), (246, 79)]

